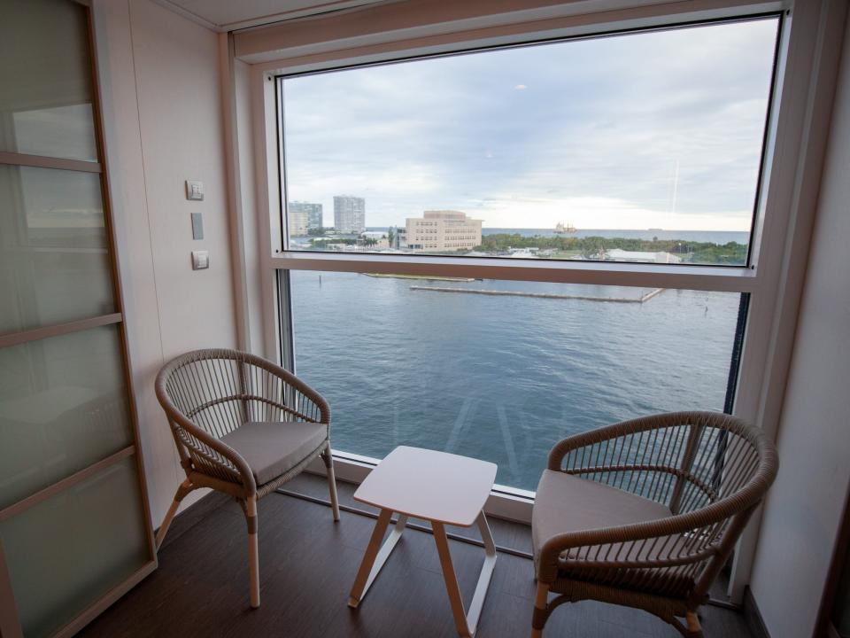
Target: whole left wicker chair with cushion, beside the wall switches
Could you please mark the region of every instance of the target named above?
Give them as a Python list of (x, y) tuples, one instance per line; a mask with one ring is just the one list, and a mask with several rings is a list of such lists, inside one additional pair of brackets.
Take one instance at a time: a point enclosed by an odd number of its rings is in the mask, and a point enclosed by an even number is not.
[(248, 522), (251, 607), (259, 607), (257, 500), (321, 456), (339, 520), (328, 402), (290, 372), (235, 350), (177, 357), (159, 371), (156, 390), (186, 471), (159, 527), (157, 549), (186, 494), (198, 487), (230, 494)]

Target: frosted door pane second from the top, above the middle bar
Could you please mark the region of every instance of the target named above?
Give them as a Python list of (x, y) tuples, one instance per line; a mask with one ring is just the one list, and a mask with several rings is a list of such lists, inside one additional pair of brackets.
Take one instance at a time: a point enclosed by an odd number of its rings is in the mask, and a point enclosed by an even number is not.
[(114, 312), (100, 175), (0, 165), (0, 334)]

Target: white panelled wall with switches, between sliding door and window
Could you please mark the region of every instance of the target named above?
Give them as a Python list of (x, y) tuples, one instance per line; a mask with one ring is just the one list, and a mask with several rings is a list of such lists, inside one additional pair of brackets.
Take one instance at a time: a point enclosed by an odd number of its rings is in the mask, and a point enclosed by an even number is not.
[[(107, 162), (153, 524), (185, 476), (153, 392), (187, 350), (236, 346), (218, 36), (150, 0), (96, 0)], [(205, 200), (185, 199), (200, 179)], [(194, 241), (189, 214), (204, 214)], [(192, 250), (210, 251), (193, 271)], [(200, 493), (187, 498), (184, 506)]]

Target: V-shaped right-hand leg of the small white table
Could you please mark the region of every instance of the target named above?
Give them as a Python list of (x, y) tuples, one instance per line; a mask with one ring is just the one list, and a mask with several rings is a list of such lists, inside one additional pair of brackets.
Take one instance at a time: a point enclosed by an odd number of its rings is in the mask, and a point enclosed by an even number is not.
[(445, 589), (449, 595), (449, 603), (452, 605), (454, 626), (457, 628), (458, 634), (465, 638), (471, 638), (471, 636), (475, 635), (478, 618), (484, 606), (484, 596), (487, 595), (487, 588), (490, 587), (493, 568), (496, 566), (496, 544), (493, 542), (490, 526), (487, 525), (487, 518), (484, 517), (483, 511), (478, 515), (476, 522), (478, 523), (478, 529), (481, 531), (484, 541), (485, 556), (481, 573), (478, 576), (478, 583), (475, 585), (475, 594), (472, 596), (472, 603), (469, 605), (469, 613), (467, 614), (463, 611), (463, 598), (460, 595), (458, 577), (454, 572), (452, 554), (449, 551), (449, 541), (445, 535), (445, 526), (437, 521), (431, 521), (431, 527), (434, 530), (434, 541), (437, 543), (437, 554), (440, 556), (440, 566), (443, 568)]

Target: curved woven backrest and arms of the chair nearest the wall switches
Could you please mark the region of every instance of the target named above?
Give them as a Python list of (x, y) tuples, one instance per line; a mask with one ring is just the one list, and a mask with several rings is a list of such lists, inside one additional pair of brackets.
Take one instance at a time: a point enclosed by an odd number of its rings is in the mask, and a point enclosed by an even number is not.
[(196, 350), (166, 363), (156, 381), (184, 468), (238, 482), (240, 459), (219, 439), (249, 421), (329, 423), (327, 401), (254, 354)]

